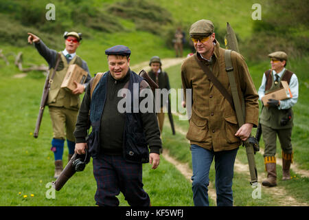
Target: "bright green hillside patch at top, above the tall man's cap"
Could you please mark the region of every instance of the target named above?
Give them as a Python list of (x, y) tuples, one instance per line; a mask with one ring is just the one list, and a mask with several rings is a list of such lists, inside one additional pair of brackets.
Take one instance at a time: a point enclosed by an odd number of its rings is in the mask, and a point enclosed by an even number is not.
[[(227, 22), (238, 33), (241, 39), (251, 35), (252, 23), (251, 6), (259, 1), (157, 1), (163, 8), (172, 12), (176, 23), (180, 25), (191, 25), (200, 19), (213, 21), (216, 28), (225, 30)], [(188, 30), (187, 30), (188, 31)]]

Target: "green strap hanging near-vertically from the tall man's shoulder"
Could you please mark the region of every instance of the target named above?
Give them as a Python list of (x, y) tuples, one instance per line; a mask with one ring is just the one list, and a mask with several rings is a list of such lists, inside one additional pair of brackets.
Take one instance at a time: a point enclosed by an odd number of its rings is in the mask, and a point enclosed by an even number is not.
[[(242, 126), (242, 124), (244, 124), (244, 111), (243, 111), (244, 104), (240, 104), (240, 99), (238, 96), (238, 90), (233, 70), (234, 68), (233, 65), (231, 64), (231, 50), (225, 50), (225, 71), (227, 72), (227, 76), (229, 77), (229, 85), (231, 86), (231, 94), (233, 96), (233, 103), (236, 111), (238, 125)], [(244, 102), (243, 96), (242, 96), (242, 102)]]

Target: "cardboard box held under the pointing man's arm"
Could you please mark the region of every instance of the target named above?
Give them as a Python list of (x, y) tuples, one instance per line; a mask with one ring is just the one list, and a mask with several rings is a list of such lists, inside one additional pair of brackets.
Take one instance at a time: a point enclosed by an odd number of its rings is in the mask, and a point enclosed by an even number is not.
[(67, 74), (65, 75), (65, 79), (63, 80), (61, 84), (61, 88), (69, 89), (73, 91), (76, 89), (76, 85), (74, 84), (74, 81), (84, 84), (88, 76), (88, 73), (82, 69), (79, 65), (73, 64), (69, 65), (69, 68), (67, 69)]

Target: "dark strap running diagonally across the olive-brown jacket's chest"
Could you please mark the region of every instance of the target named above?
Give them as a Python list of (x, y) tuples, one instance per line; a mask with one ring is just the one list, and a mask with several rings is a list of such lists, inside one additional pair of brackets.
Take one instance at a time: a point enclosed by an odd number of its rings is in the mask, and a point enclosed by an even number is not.
[(214, 74), (211, 72), (209, 67), (207, 67), (207, 65), (202, 63), (198, 59), (196, 54), (194, 56), (196, 58), (198, 65), (200, 65), (200, 67), (203, 69), (203, 72), (205, 72), (205, 74), (208, 76), (208, 78), (211, 80), (211, 82), (214, 83), (214, 86), (217, 87), (217, 89), (220, 91), (222, 96), (224, 96), (227, 99), (227, 101), (229, 102), (229, 104), (231, 104), (231, 107), (233, 107), (233, 99), (231, 97), (231, 94), (229, 94), (227, 89), (225, 89), (225, 87), (223, 87), (223, 85), (219, 82), (219, 80), (216, 78), (216, 76), (214, 76)]

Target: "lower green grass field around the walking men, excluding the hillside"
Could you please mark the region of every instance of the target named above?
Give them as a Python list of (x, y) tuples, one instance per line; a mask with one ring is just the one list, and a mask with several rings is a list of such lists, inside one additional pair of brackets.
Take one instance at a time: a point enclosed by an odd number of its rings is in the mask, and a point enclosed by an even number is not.
[[(31, 48), (31, 47), (30, 47)], [(17, 51), (17, 50), (16, 50)], [(25, 54), (31, 58), (31, 62), (37, 62), (35, 50), (25, 50)], [(27, 57), (28, 57), (27, 56)], [(249, 63), (249, 69), (255, 87), (260, 86), (262, 69), (268, 67), (268, 61), (264, 63)], [(308, 106), (308, 76), (306, 76), (306, 63), (291, 61), (288, 68), (295, 69), (300, 82), (299, 102), (295, 105), (295, 129), (293, 130), (293, 147), (295, 162), (300, 168), (308, 170), (308, 112), (304, 111)], [(54, 155), (49, 151), (52, 138), (52, 127), (49, 119), (48, 108), (45, 109), (41, 131), (38, 139), (34, 139), (32, 133), (38, 113), (38, 105), (41, 97), (41, 89), (44, 76), (31, 72), (25, 78), (13, 78), (16, 68), (12, 65), (4, 67), (5, 72), (0, 75), (0, 133), (2, 172), (0, 178), (1, 206), (93, 206), (95, 193), (95, 179), (92, 174), (92, 164), (87, 166), (82, 173), (76, 173), (60, 192), (56, 192), (56, 199), (47, 199), (45, 193), (49, 188), (46, 184), (54, 179)], [(165, 69), (170, 76), (171, 86), (181, 87), (180, 65)], [(174, 116), (177, 129), (187, 131), (188, 123), (180, 121)], [(260, 143), (263, 147), (263, 142)], [(163, 146), (170, 151), (170, 155), (181, 162), (191, 165), (189, 144), (184, 135), (176, 133), (173, 136), (169, 125), (165, 123), (163, 130)], [(67, 155), (67, 148), (65, 148)], [(281, 150), (277, 146), (277, 156), (281, 157)], [(244, 148), (240, 147), (238, 157), (243, 164), (247, 163)], [(264, 172), (264, 162), (261, 154), (255, 156), (258, 173)], [(277, 170), (281, 170), (278, 166)], [(278, 177), (282, 173), (278, 171)], [(308, 178), (300, 177), (292, 173), (295, 178), (292, 181), (278, 181), (286, 191), (299, 201), (308, 202)], [(214, 168), (211, 168), (210, 179), (214, 179)], [(261, 179), (260, 179), (261, 180)], [(172, 183), (172, 185), (170, 184)], [(161, 164), (157, 170), (151, 170), (150, 165), (144, 164), (144, 185), (150, 194), (153, 206), (192, 206), (192, 190), (190, 181), (185, 179), (172, 164), (161, 157)], [(169, 187), (166, 187), (169, 186)], [(253, 188), (249, 185), (249, 175), (235, 173), (233, 179), (233, 192), (236, 206), (280, 206), (281, 201), (274, 199), (262, 190), (262, 199), (252, 199)], [(19, 194), (20, 193), (20, 194)], [(34, 195), (33, 197), (31, 195)], [(26, 198), (23, 196), (27, 195)], [(83, 199), (80, 199), (83, 198)], [(119, 196), (120, 205), (127, 206), (122, 195)], [(211, 205), (215, 202), (211, 201)]]

